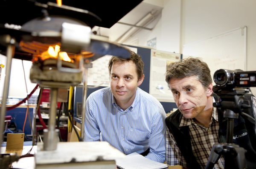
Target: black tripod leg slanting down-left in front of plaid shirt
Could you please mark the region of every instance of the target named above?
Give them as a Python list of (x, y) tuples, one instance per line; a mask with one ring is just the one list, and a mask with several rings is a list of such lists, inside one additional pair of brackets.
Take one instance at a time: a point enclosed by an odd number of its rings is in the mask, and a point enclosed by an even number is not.
[(217, 163), (218, 159), (221, 157), (222, 152), (223, 152), (223, 145), (218, 143), (213, 144), (208, 163), (204, 169), (212, 169), (215, 163)]

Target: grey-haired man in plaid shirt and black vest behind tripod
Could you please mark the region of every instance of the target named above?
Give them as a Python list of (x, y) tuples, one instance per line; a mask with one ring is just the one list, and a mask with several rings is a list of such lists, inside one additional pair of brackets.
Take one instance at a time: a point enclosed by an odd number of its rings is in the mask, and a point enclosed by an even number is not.
[[(212, 106), (219, 98), (212, 90), (210, 70), (201, 59), (189, 57), (166, 71), (166, 82), (178, 107), (166, 118), (166, 163), (183, 169), (204, 169), (213, 144), (227, 142), (227, 119), (220, 109)], [(255, 97), (247, 94), (244, 98), (253, 105), (248, 114), (255, 119)], [(233, 143), (247, 150), (248, 168), (256, 166), (255, 133), (254, 124), (240, 115), (235, 119)], [(221, 156), (214, 169), (223, 169), (224, 165)]]

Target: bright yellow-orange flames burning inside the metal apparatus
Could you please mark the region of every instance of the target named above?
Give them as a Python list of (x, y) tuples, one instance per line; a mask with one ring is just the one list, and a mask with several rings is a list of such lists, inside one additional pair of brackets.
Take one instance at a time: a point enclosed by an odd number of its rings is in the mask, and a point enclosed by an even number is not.
[(59, 45), (55, 45), (53, 48), (52, 46), (49, 46), (48, 50), (43, 52), (41, 54), (41, 59), (48, 59), (48, 58), (55, 58), (58, 59), (58, 54), (60, 58), (67, 62), (74, 62), (70, 59), (70, 57), (67, 55), (67, 52), (60, 52), (61, 47)]

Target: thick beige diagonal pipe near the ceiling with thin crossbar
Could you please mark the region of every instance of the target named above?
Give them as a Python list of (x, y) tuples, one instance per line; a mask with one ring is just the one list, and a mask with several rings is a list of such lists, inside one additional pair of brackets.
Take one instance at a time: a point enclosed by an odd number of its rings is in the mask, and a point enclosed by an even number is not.
[[(125, 34), (123, 34), (121, 37), (119, 37), (115, 42), (117, 43), (123, 43), (125, 40), (132, 37), (134, 34), (136, 34), (140, 29), (144, 28), (145, 26), (151, 23), (158, 15), (160, 14), (160, 11), (152, 10), (149, 14), (147, 14), (142, 20), (140, 20), (136, 25), (130, 25), (125, 24), (129, 26), (133, 26), (131, 29), (129, 29)], [(119, 23), (119, 22), (117, 22)], [(152, 30), (151, 28), (150, 30)]]

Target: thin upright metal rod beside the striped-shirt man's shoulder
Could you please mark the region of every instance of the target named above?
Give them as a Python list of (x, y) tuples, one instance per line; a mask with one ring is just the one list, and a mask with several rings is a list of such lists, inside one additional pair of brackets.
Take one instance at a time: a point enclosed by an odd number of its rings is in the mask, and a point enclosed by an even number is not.
[(86, 108), (86, 97), (87, 97), (87, 73), (88, 67), (84, 66), (84, 78), (83, 78), (83, 101), (82, 101), (82, 123), (81, 123), (81, 141), (84, 141), (84, 118), (85, 118), (85, 108)]

